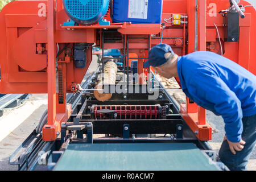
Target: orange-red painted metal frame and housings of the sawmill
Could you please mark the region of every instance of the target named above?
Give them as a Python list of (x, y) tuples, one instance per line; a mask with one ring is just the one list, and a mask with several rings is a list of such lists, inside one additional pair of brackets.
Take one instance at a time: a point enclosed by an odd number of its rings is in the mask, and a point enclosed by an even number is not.
[[(0, 64), (1, 64), (1, 93), (48, 93), (48, 123), (43, 127), (43, 140), (55, 140), (60, 133), (61, 122), (68, 120), (72, 113), (71, 105), (67, 104), (66, 93), (74, 92), (76, 84), (82, 81), (92, 60), (92, 48), (87, 49), (86, 68), (75, 68), (72, 56), (61, 53), (56, 60), (57, 45), (59, 49), (65, 43), (96, 43), (102, 48), (101, 34), (97, 31), (116, 29), (124, 39), (115, 43), (107, 43), (104, 48), (125, 49), (126, 36), (150, 36), (150, 39), (136, 39), (129, 42), (129, 52), (138, 57), (147, 57), (148, 41), (150, 47), (160, 43), (161, 24), (132, 24), (111, 23), (110, 26), (100, 26), (98, 23), (91, 26), (70, 26), (62, 24), (68, 16), (63, 10), (62, 1), (14, 1), (6, 5), (0, 13)], [(162, 23), (163, 43), (173, 46), (174, 51), (182, 56), (196, 51), (214, 51), (220, 53), (220, 44), (214, 23), (220, 32), (224, 56), (242, 65), (254, 75), (256, 74), (256, 31), (253, 7), (246, 8), (246, 17), (240, 19), (240, 42), (224, 42), (225, 27), (223, 17), (218, 11), (229, 7), (228, 0), (200, 0), (196, 6), (191, 0), (164, 0)], [(249, 5), (246, 1), (242, 5)], [(56, 7), (57, 5), (57, 7)], [(210, 6), (210, 5), (213, 5)], [(210, 12), (216, 5), (216, 16)], [(39, 16), (38, 13), (46, 13)], [(164, 22), (171, 14), (188, 16), (183, 19), (188, 23), (175, 26)], [(195, 18), (197, 14), (198, 19)], [(106, 18), (110, 20), (110, 17)], [(197, 21), (197, 22), (196, 22)], [(198, 34), (196, 34), (196, 26)], [(196, 42), (196, 35), (198, 40)], [(97, 40), (99, 38), (100, 40)], [(68, 46), (72, 49), (72, 46)], [(126, 60), (127, 61), (127, 60)], [(144, 59), (138, 61), (138, 73), (148, 73), (143, 68)], [(56, 68), (56, 63), (58, 64)], [(58, 69), (59, 84), (56, 82)], [(147, 79), (140, 81), (144, 84)], [(177, 81), (179, 81), (177, 79)], [(56, 89), (59, 85), (59, 90)], [(61, 86), (60, 86), (61, 85)], [(76, 89), (75, 89), (76, 90)], [(61, 98), (62, 102), (59, 101)], [(187, 98), (186, 104), (180, 106), (183, 118), (196, 133), (200, 140), (210, 140), (212, 129), (206, 122), (205, 109), (197, 106)]]

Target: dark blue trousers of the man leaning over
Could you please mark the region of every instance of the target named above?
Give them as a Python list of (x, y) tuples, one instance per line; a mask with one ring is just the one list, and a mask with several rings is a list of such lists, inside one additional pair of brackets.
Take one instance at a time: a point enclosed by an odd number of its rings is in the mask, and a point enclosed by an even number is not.
[(250, 117), (243, 117), (243, 133), (242, 140), (246, 143), (242, 151), (236, 151), (236, 154), (232, 154), (229, 149), (229, 144), (225, 140), (220, 148), (218, 155), (221, 161), (230, 170), (247, 170), (246, 165), (250, 159), (251, 152), (254, 150), (256, 144), (256, 114)]

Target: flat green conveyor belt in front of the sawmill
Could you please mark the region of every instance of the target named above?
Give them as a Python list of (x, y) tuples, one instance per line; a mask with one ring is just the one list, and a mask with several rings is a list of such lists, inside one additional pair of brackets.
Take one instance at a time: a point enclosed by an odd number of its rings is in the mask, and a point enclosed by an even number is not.
[(193, 143), (71, 143), (55, 170), (218, 170)]

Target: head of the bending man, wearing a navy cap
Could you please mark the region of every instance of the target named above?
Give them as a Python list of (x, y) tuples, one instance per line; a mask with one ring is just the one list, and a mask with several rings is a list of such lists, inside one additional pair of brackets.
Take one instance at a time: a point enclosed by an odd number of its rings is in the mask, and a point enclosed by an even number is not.
[(144, 68), (152, 66), (159, 75), (171, 78), (177, 76), (176, 60), (177, 55), (167, 44), (158, 44), (150, 50), (148, 61)]

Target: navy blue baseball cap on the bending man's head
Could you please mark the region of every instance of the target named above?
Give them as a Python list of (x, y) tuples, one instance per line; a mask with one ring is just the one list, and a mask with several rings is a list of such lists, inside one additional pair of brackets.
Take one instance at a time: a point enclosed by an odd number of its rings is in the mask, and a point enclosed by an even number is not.
[[(170, 52), (171, 56), (166, 59), (164, 57), (164, 54)], [(148, 68), (150, 66), (152, 67), (158, 67), (164, 63), (166, 63), (171, 57), (174, 56), (174, 51), (172, 51), (171, 46), (167, 44), (158, 44), (151, 48), (149, 54), (148, 54), (148, 60), (146, 63), (144, 63), (143, 67)]]

